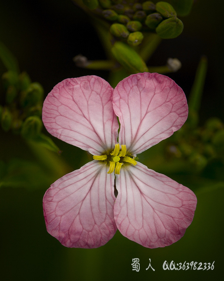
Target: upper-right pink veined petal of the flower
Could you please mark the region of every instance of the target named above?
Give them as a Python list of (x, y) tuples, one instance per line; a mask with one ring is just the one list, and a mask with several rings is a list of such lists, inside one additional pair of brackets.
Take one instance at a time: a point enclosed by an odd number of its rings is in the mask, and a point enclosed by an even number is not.
[(186, 97), (169, 77), (133, 74), (114, 89), (113, 107), (119, 117), (119, 143), (139, 154), (180, 129), (188, 116)]

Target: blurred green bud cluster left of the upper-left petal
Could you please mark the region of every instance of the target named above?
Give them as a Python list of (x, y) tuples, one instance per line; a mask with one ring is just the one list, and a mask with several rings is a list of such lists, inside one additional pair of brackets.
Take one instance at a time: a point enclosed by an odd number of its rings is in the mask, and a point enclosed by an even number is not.
[(31, 82), (26, 72), (19, 75), (7, 71), (2, 75), (6, 91), (5, 105), (0, 105), (0, 121), (3, 131), (12, 131), (26, 139), (37, 136), (42, 129), (43, 88)]

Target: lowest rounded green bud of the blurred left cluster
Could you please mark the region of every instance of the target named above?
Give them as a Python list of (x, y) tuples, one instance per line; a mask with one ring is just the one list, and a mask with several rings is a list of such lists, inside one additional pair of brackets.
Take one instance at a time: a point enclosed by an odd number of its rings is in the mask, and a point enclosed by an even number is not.
[(29, 116), (22, 124), (21, 136), (25, 139), (33, 139), (42, 129), (43, 123), (38, 116)]

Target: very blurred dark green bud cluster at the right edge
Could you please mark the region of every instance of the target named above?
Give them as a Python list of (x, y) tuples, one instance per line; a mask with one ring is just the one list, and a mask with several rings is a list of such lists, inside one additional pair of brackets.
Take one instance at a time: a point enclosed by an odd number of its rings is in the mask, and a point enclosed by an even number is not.
[(166, 147), (167, 156), (182, 158), (196, 172), (209, 163), (219, 161), (224, 165), (224, 124), (218, 118), (210, 118), (203, 127), (192, 130), (188, 122), (173, 135)]

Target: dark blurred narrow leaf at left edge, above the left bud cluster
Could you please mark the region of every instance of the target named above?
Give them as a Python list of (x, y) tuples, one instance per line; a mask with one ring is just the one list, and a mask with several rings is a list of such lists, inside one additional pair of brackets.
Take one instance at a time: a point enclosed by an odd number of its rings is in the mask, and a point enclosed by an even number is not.
[(0, 59), (2, 60), (7, 70), (15, 71), (19, 74), (20, 71), (16, 58), (2, 42), (0, 42)]

